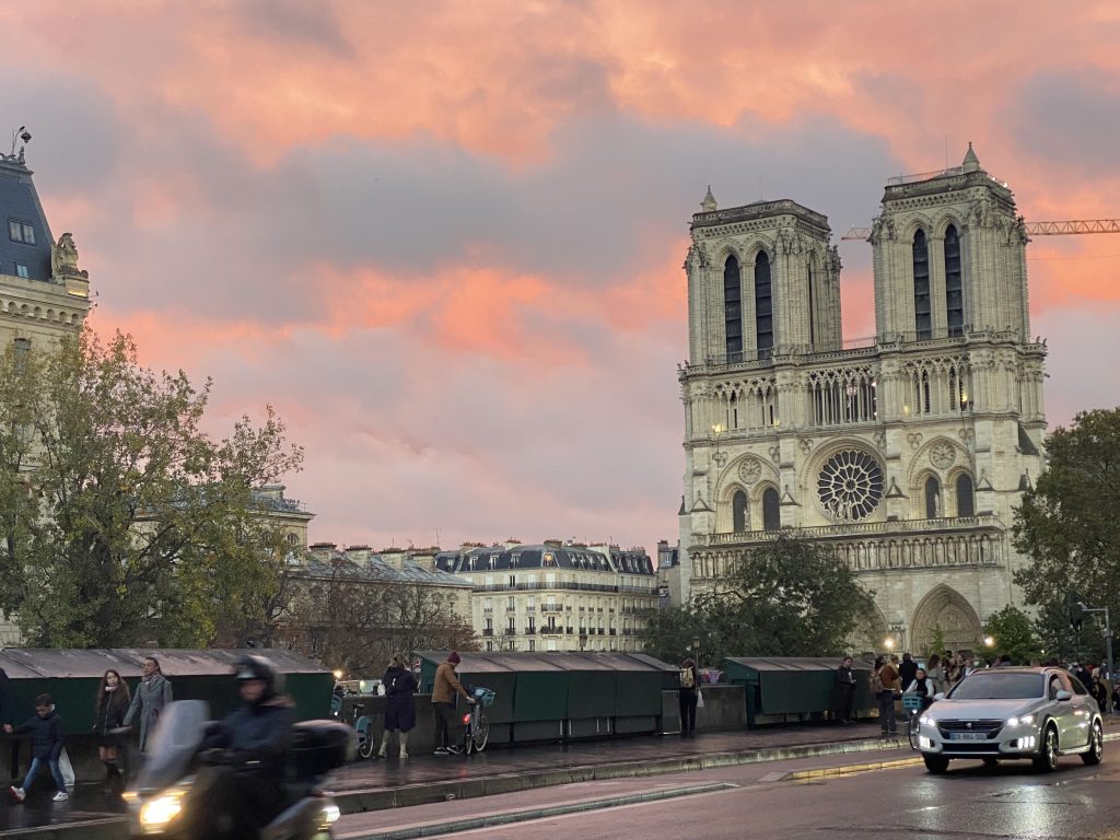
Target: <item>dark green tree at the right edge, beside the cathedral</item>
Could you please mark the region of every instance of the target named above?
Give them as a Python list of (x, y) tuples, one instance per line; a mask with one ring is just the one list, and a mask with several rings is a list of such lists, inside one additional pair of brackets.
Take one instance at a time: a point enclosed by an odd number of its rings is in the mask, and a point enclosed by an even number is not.
[(1049, 463), (1015, 512), (1015, 573), (1027, 604), (1061, 604), (1072, 588), (1120, 613), (1120, 410), (1077, 414), (1046, 440)]

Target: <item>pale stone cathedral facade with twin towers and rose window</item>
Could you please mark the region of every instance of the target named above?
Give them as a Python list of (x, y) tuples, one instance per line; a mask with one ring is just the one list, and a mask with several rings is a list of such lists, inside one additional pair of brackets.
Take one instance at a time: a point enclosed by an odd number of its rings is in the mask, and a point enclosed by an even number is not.
[(833, 547), (875, 591), (866, 643), (973, 647), (1018, 603), (1012, 510), (1043, 466), (1045, 344), (1008, 186), (960, 167), (893, 178), (870, 230), (874, 339), (846, 344), (828, 220), (719, 209), (685, 261), (682, 597), (780, 533)]

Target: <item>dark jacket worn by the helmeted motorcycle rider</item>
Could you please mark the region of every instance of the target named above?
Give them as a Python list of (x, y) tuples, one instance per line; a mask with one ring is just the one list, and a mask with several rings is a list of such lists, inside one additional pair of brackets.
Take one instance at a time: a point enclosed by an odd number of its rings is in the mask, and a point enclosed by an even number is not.
[(295, 722), (291, 700), (273, 694), (226, 715), (206, 736), (203, 748), (225, 749), (228, 764), (282, 780)]

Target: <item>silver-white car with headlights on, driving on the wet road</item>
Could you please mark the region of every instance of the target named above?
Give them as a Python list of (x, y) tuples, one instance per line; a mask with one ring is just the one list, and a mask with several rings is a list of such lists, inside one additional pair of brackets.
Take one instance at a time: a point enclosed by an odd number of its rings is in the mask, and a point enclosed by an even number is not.
[(1042, 772), (1053, 771), (1063, 755), (1100, 764), (1103, 743), (1096, 701), (1060, 668), (973, 671), (937, 694), (917, 730), (930, 773), (944, 773), (951, 758), (1029, 758)]

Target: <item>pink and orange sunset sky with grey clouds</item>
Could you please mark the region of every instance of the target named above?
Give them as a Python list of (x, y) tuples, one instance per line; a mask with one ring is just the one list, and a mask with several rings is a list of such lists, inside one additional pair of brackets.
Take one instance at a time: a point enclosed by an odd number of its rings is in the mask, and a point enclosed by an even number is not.
[[(691, 216), (793, 198), (874, 334), (886, 179), (968, 142), (1028, 221), (1120, 217), (1120, 4), (0, 0), (95, 330), (274, 405), (312, 541), (675, 542)], [(2, 125), (2, 122), (0, 122)], [(1051, 426), (1120, 394), (1120, 235), (1028, 248)]]

